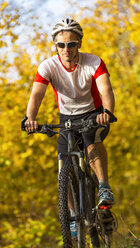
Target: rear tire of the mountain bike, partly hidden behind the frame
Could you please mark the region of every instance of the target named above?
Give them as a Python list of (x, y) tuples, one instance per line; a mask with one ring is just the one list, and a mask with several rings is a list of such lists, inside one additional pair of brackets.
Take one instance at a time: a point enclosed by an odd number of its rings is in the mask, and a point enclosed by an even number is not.
[(91, 238), (92, 247), (99, 248), (100, 240), (96, 227), (96, 213), (93, 214), (92, 210), (96, 206), (95, 183), (91, 177), (86, 178), (86, 213), (87, 222), (89, 223), (89, 233)]

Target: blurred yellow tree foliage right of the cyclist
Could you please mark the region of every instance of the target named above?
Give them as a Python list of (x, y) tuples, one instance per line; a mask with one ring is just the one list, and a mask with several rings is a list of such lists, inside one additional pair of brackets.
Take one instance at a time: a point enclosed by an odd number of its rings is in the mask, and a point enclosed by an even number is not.
[(109, 153), (110, 181), (115, 192), (116, 212), (139, 230), (139, 118), (140, 51), (138, 1), (97, 1), (84, 27), (82, 51), (100, 56), (110, 72), (115, 92), (115, 115), (105, 143)]

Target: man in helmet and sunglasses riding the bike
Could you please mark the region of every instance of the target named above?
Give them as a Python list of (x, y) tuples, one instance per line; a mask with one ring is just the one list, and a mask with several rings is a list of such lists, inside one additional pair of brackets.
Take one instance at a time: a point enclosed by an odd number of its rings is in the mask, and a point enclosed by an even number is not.
[[(108, 184), (107, 152), (102, 143), (109, 131), (113, 113), (114, 94), (104, 62), (97, 56), (80, 53), (83, 31), (78, 22), (66, 18), (52, 31), (57, 55), (44, 60), (38, 67), (27, 107), (26, 130), (37, 130), (36, 115), (49, 82), (55, 91), (60, 122), (93, 117), (98, 124), (107, 124), (82, 134), (87, 146), (89, 163), (99, 180), (99, 205), (113, 204), (113, 193)], [(101, 95), (101, 97), (100, 97)], [(63, 137), (58, 139), (58, 152), (66, 151)]]

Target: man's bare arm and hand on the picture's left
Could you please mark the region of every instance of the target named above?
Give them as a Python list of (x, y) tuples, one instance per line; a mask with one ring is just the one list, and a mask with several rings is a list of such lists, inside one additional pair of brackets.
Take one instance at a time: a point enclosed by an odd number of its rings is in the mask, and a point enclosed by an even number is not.
[(35, 121), (40, 104), (45, 95), (47, 85), (34, 82), (31, 96), (27, 107), (28, 120), (25, 122), (26, 131), (37, 130), (38, 123)]

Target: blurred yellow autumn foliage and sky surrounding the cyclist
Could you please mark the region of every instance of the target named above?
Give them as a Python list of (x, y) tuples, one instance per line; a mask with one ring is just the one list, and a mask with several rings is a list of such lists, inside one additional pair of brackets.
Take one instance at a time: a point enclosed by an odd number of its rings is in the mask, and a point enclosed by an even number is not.
[[(88, 1), (89, 2), (89, 1)], [(72, 17), (81, 52), (101, 57), (115, 93), (105, 140), (119, 229), (114, 247), (140, 247), (140, 1), (0, 0), (0, 247), (59, 248), (57, 137), (20, 131), (40, 62), (55, 54), (51, 30)], [(58, 122), (51, 86), (39, 123)]]

